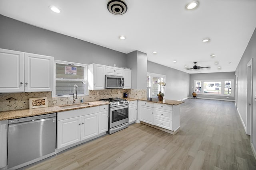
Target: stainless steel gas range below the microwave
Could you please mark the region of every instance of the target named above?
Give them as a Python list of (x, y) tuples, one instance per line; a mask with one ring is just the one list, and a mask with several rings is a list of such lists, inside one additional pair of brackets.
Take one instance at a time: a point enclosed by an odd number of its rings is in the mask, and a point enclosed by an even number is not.
[(112, 134), (128, 127), (129, 101), (120, 98), (102, 99), (101, 101), (110, 102), (107, 133)]

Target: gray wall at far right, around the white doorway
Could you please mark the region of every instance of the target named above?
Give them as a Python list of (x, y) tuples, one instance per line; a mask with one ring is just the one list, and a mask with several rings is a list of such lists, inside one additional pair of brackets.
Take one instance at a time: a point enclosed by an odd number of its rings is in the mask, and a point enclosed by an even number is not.
[(238, 76), (237, 103), (236, 107), (246, 125), (246, 106), (247, 106), (247, 63), (253, 59), (253, 85), (252, 85), (252, 145), (256, 149), (256, 29), (244, 51), (242, 59), (236, 68)]

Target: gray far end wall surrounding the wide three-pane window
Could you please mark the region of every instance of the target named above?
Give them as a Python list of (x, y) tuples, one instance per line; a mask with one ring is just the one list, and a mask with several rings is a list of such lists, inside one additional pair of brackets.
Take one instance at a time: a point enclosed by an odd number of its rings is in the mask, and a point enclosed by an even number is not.
[[(234, 97), (232, 96), (211, 96), (211, 95), (200, 95), (198, 94), (197, 97), (201, 98), (214, 98), (214, 99), (223, 99), (223, 100), (235, 100), (235, 83), (236, 83), (236, 76), (235, 72), (217, 72), (217, 73), (200, 73), (200, 74), (190, 74), (190, 95), (192, 96), (194, 87), (194, 80), (225, 80), (225, 79), (233, 79), (234, 80)], [(228, 98), (227, 98), (228, 97)]]

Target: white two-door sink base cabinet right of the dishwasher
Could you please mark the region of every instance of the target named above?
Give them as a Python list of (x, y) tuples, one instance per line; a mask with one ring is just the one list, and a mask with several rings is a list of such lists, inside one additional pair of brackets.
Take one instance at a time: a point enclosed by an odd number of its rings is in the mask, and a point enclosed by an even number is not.
[(99, 134), (99, 106), (58, 113), (57, 149)]

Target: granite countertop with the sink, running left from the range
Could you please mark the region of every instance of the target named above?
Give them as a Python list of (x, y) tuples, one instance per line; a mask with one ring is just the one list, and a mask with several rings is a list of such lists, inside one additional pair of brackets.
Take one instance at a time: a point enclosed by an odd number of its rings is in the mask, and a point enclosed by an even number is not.
[(75, 104), (74, 107), (69, 107), (69, 108), (62, 108), (59, 106), (49, 106), (49, 107), (40, 107), (35, 109), (18, 109), (18, 110), (10, 110), (10, 111), (0, 111), (0, 121), (109, 104), (108, 102), (103, 102), (103, 101), (94, 101), (94, 102), (86, 102), (86, 103), (88, 103), (89, 105), (77, 106), (77, 104)]

